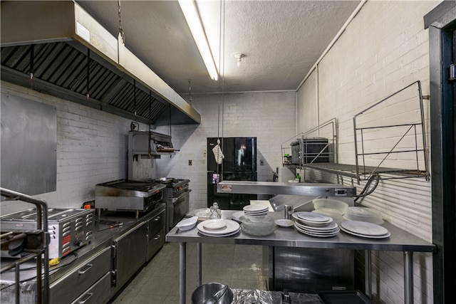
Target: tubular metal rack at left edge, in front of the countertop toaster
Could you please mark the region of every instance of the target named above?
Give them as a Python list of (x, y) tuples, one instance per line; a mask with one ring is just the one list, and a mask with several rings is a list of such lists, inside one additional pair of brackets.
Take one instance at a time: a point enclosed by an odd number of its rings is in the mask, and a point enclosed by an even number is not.
[[(19, 252), (28, 253), (26, 256), (15, 259), (9, 263), (2, 263), (0, 273), (10, 271), (14, 268), (15, 274), (15, 302), (21, 303), (21, 271), (20, 266), (27, 261), (36, 259), (36, 303), (48, 303), (49, 295), (49, 255), (48, 255), (48, 205), (46, 201), (35, 199), (32, 196), (14, 192), (9, 189), (0, 188), (2, 201), (24, 201), (36, 206), (36, 230), (33, 231), (1, 231), (1, 249), (18, 246)], [(10, 246), (11, 245), (11, 246)], [(4, 262), (4, 261), (3, 261)]]

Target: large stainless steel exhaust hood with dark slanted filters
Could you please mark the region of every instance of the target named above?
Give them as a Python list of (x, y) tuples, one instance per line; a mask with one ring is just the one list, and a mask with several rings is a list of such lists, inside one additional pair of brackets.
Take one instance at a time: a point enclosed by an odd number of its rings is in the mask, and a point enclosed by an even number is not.
[(201, 116), (73, 1), (1, 1), (1, 79), (152, 125)]

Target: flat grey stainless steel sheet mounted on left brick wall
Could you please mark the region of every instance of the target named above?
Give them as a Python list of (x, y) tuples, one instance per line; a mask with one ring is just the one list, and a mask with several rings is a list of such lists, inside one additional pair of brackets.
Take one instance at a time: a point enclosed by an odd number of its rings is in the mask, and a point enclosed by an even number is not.
[(1, 187), (28, 195), (56, 191), (56, 108), (1, 93), (0, 119)]

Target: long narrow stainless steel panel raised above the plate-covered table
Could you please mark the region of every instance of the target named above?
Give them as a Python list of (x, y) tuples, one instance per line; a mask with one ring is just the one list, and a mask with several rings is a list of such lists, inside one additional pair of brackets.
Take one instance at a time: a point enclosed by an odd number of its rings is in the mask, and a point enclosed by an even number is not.
[(217, 192), (351, 197), (356, 195), (356, 187), (342, 184), (224, 181), (217, 184)]

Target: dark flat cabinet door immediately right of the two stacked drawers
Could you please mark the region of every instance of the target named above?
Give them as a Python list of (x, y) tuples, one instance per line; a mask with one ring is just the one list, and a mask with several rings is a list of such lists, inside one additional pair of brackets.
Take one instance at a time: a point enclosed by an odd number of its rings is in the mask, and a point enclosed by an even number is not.
[(142, 222), (134, 229), (114, 240), (115, 290), (120, 289), (146, 262), (147, 224)]

